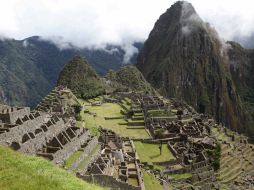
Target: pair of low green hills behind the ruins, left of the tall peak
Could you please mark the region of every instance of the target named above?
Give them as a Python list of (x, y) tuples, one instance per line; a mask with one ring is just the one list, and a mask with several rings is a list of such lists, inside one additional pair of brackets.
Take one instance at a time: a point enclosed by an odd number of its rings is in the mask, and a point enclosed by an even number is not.
[(75, 56), (65, 64), (59, 74), (57, 85), (68, 87), (77, 98), (83, 99), (113, 92), (156, 94), (155, 89), (134, 65), (123, 66), (117, 71), (109, 70), (105, 77), (100, 77), (81, 56)]

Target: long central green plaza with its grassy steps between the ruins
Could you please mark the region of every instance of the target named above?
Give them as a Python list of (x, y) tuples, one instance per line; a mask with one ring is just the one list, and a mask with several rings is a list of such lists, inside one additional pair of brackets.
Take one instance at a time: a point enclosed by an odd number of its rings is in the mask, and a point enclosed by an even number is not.
[[(125, 119), (123, 108), (117, 103), (103, 103), (101, 105), (92, 105), (92, 103), (100, 102), (101, 97), (89, 100), (80, 100), (83, 105), (81, 111), (82, 120), (85, 127), (96, 133), (99, 126), (111, 129), (122, 137), (130, 137), (132, 139), (148, 139), (150, 138), (142, 122), (140, 126), (129, 126), (128, 123), (135, 122), (132, 119)], [(125, 103), (127, 109), (129, 105)], [(121, 113), (121, 110), (123, 112)], [(106, 119), (105, 119), (106, 118)], [(110, 118), (110, 119), (107, 119)]]

